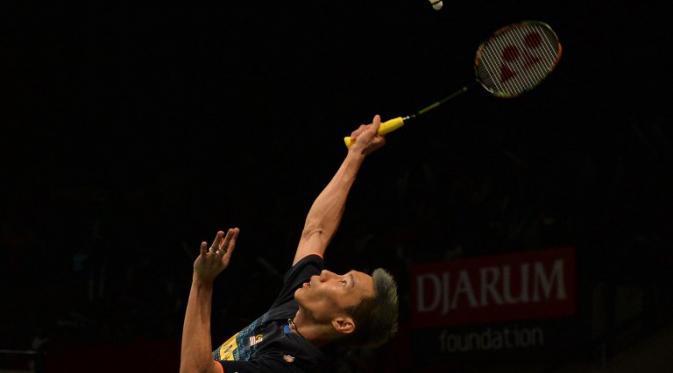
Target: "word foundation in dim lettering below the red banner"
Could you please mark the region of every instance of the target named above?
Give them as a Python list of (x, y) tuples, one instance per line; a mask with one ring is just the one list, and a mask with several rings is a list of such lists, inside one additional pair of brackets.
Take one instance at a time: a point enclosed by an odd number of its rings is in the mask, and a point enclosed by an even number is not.
[(486, 329), (483, 332), (466, 334), (447, 333), (439, 335), (440, 352), (496, 351), (504, 349), (532, 348), (544, 345), (541, 328)]

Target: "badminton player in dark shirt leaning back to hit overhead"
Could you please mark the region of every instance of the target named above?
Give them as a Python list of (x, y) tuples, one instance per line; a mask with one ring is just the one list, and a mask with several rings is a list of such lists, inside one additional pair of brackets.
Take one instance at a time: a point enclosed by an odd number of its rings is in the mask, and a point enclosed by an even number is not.
[(182, 330), (180, 372), (316, 372), (335, 346), (376, 347), (395, 334), (397, 287), (388, 272), (336, 274), (323, 266), (358, 170), (385, 143), (377, 134), (380, 124), (376, 115), (352, 132), (345, 159), (308, 212), (292, 266), (269, 309), (214, 349), (213, 282), (229, 265), (239, 229), (217, 232), (210, 247), (201, 243)]

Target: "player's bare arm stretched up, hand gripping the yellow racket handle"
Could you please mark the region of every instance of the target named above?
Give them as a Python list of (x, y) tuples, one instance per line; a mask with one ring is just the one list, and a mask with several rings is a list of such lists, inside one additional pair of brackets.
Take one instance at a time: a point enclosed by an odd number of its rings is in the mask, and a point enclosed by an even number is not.
[(352, 145), (332, 180), (318, 195), (306, 216), (292, 264), (311, 254), (323, 256), (343, 216), (346, 198), (365, 157), (385, 144), (377, 134), (381, 118), (363, 124), (351, 134)]

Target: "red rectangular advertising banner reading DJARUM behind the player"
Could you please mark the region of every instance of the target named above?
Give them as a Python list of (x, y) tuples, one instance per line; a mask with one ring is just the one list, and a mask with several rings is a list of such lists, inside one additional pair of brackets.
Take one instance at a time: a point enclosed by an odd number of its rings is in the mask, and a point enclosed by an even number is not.
[(546, 319), (576, 309), (575, 248), (411, 267), (415, 328)]

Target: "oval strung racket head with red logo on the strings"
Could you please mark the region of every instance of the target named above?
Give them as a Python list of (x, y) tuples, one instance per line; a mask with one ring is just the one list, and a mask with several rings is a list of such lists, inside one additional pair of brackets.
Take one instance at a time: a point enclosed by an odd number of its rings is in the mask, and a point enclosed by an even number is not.
[(554, 30), (540, 21), (523, 21), (498, 29), (474, 59), (477, 81), (496, 97), (516, 97), (538, 86), (561, 59), (563, 48)]

